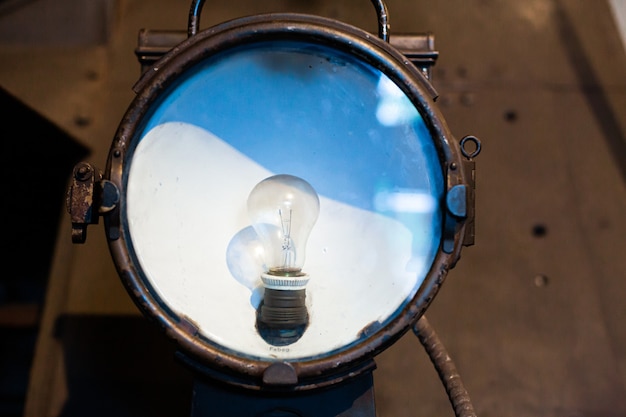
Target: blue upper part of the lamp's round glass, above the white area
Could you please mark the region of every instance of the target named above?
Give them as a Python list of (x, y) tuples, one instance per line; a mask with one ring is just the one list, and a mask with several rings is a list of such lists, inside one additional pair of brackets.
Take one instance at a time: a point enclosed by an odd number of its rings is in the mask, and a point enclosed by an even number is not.
[(433, 140), (407, 96), (373, 66), (325, 46), (258, 42), (202, 61), (162, 97), (142, 136), (167, 122), (202, 127), (271, 172), (305, 178), (321, 196), (409, 230), (427, 225), (414, 250), (431, 259), (437, 251), (443, 178)]

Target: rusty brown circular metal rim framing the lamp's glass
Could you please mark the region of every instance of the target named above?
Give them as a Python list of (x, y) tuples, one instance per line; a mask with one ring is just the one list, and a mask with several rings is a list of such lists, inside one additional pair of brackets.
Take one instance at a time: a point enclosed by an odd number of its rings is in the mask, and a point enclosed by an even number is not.
[[(460, 165), (460, 150), (452, 139), (442, 115), (434, 104), (433, 89), (423, 74), (388, 43), (358, 28), (318, 16), (301, 14), (266, 14), (235, 19), (209, 28), (188, 38), (159, 60), (151, 71), (135, 85), (137, 97), (122, 119), (114, 138), (106, 176), (125, 195), (126, 167), (136, 145), (144, 117), (177, 77), (198, 62), (215, 54), (250, 42), (296, 40), (318, 43), (355, 55), (394, 80), (422, 114), (436, 141), (443, 177), (448, 167)], [(467, 183), (462, 172), (455, 174), (455, 183)], [(449, 187), (449, 179), (448, 185)], [(149, 280), (136, 259), (132, 242), (124, 224), (124, 198), (105, 217), (105, 231), (118, 273), (127, 291), (140, 310), (155, 321), (172, 338), (197, 368), (225, 382), (249, 389), (261, 389), (264, 372), (273, 361), (244, 357), (198, 334), (191, 320), (177, 316), (150, 287)], [(464, 226), (454, 236), (454, 250), (438, 251), (433, 265), (412, 300), (382, 329), (369, 338), (327, 356), (287, 361), (298, 382), (288, 390), (307, 390), (334, 384), (365, 372), (362, 365), (391, 346), (426, 311), (437, 294), (450, 268), (460, 254)]]

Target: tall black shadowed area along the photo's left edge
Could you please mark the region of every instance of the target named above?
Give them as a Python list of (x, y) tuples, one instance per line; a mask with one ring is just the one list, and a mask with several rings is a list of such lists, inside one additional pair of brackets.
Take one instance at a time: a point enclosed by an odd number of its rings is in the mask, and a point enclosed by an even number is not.
[[(0, 87), (5, 271), (0, 276), (0, 416), (21, 416), (68, 173), (89, 151)], [(16, 265), (17, 264), (17, 265)], [(17, 271), (17, 272), (14, 272)]]

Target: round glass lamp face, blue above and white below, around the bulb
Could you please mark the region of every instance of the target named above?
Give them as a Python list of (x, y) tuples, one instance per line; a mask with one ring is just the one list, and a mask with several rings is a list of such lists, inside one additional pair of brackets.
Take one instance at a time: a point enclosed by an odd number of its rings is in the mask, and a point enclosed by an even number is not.
[[(383, 72), (327, 46), (259, 42), (196, 64), (153, 109), (123, 212), (148, 284), (203, 336), (261, 360), (326, 356), (414, 297), (440, 244), (442, 168)], [(319, 196), (302, 269), (308, 324), (286, 343), (258, 328), (264, 257), (246, 208), (275, 174)]]

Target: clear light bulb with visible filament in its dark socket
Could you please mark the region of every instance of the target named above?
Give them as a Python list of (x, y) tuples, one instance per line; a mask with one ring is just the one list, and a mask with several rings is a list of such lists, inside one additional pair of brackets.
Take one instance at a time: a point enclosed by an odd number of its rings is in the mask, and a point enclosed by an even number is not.
[(279, 174), (259, 182), (248, 197), (248, 215), (264, 249), (265, 287), (261, 325), (306, 326), (309, 276), (302, 271), (309, 234), (319, 215), (319, 197), (302, 178)]

